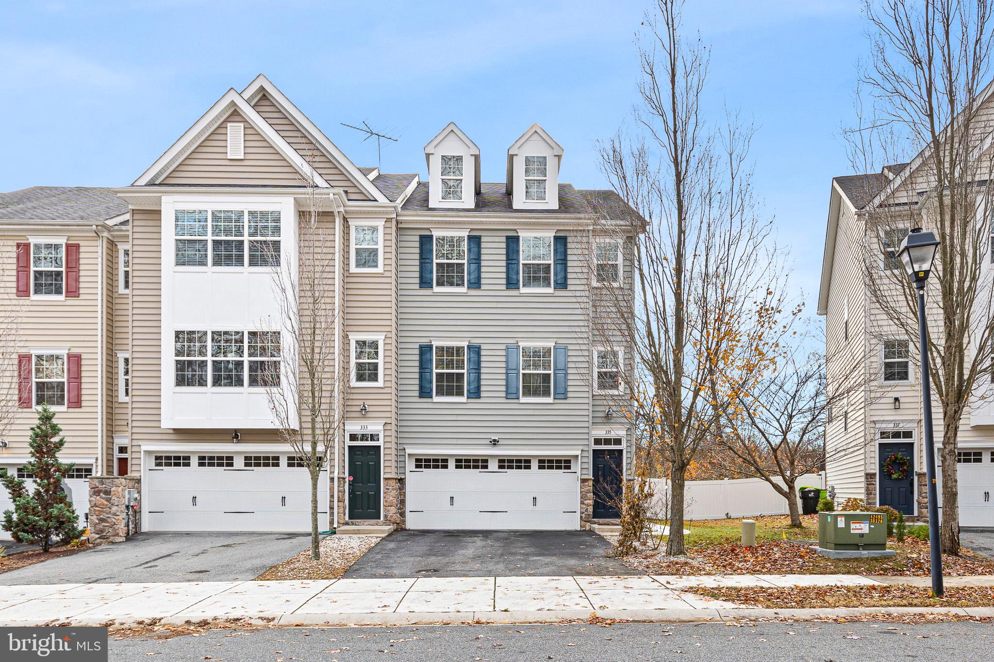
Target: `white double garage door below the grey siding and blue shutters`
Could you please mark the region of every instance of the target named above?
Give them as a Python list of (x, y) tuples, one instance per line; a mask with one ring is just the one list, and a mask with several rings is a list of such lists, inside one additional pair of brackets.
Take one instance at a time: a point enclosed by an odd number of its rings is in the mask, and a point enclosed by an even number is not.
[(408, 458), (412, 529), (580, 528), (579, 459)]

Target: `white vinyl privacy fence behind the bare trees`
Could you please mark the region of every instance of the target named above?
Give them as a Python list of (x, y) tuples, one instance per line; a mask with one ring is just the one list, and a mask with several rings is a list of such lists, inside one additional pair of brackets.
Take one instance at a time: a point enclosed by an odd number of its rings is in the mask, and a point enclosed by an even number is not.
[[(653, 511), (662, 514), (669, 498), (670, 481), (668, 478), (657, 478), (652, 482), (655, 492)], [(824, 488), (824, 474), (805, 474), (797, 480), (797, 486), (802, 485)], [(795, 493), (794, 498), (798, 499), (799, 508), (799, 495)], [(684, 499), (686, 519), (785, 515), (788, 512), (787, 500), (762, 478), (689, 480)]]

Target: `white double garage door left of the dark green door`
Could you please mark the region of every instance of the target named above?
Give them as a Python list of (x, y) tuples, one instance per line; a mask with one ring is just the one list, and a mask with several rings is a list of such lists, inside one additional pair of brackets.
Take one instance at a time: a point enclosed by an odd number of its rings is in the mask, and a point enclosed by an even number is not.
[[(309, 531), (310, 476), (292, 455), (148, 453), (141, 507), (148, 531)], [(318, 484), (328, 528), (328, 471)]]

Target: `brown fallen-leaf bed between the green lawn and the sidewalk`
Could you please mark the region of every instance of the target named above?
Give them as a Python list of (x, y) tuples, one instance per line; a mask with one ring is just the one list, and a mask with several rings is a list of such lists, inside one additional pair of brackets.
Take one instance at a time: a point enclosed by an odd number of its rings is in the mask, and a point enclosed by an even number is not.
[[(820, 556), (805, 544), (766, 540), (745, 548), (738, 543), (688, 550), (688, 558), (645, 552), (624, 558), (632, 568), (649, 575), (899, 575), (921, 577), (930, 573), (928, 544), (916, 538), (890, 542), (898, 554), (892, 558), (840, 559)], [(942, 556), (942, 574), (951, 577), (994, 575), (994, 559), (968, 550)]]

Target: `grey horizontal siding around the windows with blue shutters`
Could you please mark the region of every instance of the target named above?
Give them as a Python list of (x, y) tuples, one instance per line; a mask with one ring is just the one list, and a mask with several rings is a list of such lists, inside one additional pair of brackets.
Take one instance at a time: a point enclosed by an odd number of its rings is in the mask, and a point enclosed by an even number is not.
[[(488, 448), (492, 437), (500, 439), (498, 453), (510, 453), (511, 446), (588, 449), (589, 274), (586, 262), (576, 258), (586, 230), (560, 232), (570, 237), (570, 289), (553, 294), (505, 288), (505, 237), (517, 234), (511, 228), (470, 229), (482, 236), (482, 289), (463, 294), (419, 289), (418, 235), (428, 233), (423, 227), (401, 227), (400, 462), (409, 444), (458, 443), (478, 449)], [(480, 399), (443, 403), (418, 397), (417, 345), (443, 338), (482, 345)], [(505, 397), (505, 347), (527, 339), (569, 345), (568, 399), (526, 404)], [(588, 455), (584, 450), (581, 475), (589, 475)]]

